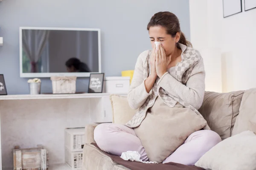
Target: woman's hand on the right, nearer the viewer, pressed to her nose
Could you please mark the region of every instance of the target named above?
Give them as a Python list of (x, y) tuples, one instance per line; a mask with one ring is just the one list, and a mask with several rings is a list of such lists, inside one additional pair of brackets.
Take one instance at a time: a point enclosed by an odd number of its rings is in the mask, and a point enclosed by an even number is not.
[(157, 76), (162, 77), (163, 74), (167, 71), (167, 66), (171, 62), (171, 56), (166, 57), (164, 48), (162, 45), (159, 45), (158, 50), (156, 51), (156, 71)]

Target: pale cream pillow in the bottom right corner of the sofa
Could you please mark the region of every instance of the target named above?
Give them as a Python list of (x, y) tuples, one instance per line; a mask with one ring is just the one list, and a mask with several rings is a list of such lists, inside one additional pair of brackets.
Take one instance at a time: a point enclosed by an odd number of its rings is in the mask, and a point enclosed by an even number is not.
[(256, 135), (244, 131), (218, 143), (195, 166), (205, 170), (256, 170)]

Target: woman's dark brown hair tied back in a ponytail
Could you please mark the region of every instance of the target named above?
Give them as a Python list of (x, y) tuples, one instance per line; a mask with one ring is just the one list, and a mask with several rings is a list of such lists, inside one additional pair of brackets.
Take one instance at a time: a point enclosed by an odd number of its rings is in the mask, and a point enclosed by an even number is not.
[(183, 32), (180, 31), (180, 22), (175, 14), (172, 12), (158, 12), (151, 17), (151, 20), (148, 23), (147, 29), (149, 30), (152, 26), (162, 26), (166, 28), (167, 34), (172, 35), (172, 37), (176, 36), (177, 32), (180, 32), (180, 40), (179, 42), (188, 47), (192, 47), (191, 42), (186, 40)]

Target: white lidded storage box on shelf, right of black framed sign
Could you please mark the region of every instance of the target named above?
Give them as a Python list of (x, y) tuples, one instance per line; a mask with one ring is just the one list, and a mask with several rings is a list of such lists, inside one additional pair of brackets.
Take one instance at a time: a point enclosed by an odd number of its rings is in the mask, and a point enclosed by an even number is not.
[(105, 77), (103, 93), (127, 94), (130, 87), (130, 77)]

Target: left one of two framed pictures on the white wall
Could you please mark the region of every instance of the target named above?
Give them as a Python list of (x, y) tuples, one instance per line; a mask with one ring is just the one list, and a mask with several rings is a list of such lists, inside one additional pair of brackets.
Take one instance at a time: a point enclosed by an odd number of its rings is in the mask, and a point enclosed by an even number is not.
[(242, 12), (242, 0), (223, 0), (223, 17), (230, 17), (232, 15)]

